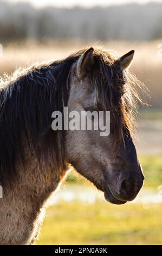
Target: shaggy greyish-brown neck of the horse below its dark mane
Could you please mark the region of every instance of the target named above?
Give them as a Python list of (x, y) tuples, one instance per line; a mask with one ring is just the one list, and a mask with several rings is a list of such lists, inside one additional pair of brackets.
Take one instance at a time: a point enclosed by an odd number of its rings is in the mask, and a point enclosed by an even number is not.
[[(60, 182), (60, 173), (55, 163), (40, 167), (35, 154), (29, 149), (25, 149), (25, 172), (18, 164), (16, 169), (17, 177), (12, 187), (3, 178), (0, 243), (5, 245), (30, 244), (35, 239), (43, 221), (43, 205)], [(7, 229), (4, 229), (6, 223)], [(17, 232), (19, 236), (14, 235)]]

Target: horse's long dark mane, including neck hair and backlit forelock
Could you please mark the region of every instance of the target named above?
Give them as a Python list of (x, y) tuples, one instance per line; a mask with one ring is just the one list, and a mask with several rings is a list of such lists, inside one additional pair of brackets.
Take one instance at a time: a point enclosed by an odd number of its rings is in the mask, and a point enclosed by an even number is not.
[[(64, 159), (64, 131), (51, 129), (51, 113), (67, 106), (68, 78), (73, 64), (86, 49), (66, 59), (37, 63), (18, 69), (0, 81), (0, 174), (11, 178), (16, 172), (15, 160), (24, 165), (22, 138), (34, 148), (38, 159), (54, 159), (58, 168), (66, 168)], [(123, 139), (124, 127), (132, 130), (133, 111), (140, 101), (138, 89), (142, 84), (131, 72), (122, 72), (115, 54), (95, 49), (96, 62), (88, 71), (90, 83), (96, 91), (99, 108), (111, 111), (114, 148)], [(59, 154), (59, 143), (61, 154)]]

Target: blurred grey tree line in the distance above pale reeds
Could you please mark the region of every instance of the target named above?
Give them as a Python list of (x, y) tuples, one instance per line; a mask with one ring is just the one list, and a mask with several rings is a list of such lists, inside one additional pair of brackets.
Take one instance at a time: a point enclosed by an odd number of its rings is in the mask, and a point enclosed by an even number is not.
[(0, 1), (0, 42), (24, 39), (152, 40), (162, 37), (162, 4), (35, 9)]

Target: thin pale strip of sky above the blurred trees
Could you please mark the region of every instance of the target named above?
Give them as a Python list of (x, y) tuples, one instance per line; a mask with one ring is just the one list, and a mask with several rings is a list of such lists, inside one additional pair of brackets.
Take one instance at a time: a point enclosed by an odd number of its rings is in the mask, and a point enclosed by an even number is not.
[(162, 2), (162, 0), (7, 0), (11, 3), (27, 2), (34, 5), (36, 8), (41, 8), (47, 5), (56, 7), (73, 7), (75, 5), (81, 5), (84, 7), (93, 7), (95, 5), (112, 5), (112, 4), (125, 4), (125, 3), (140, 3), (145, 4), (148, 2)]

